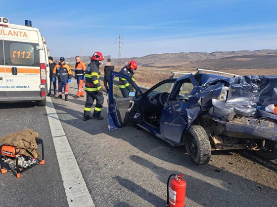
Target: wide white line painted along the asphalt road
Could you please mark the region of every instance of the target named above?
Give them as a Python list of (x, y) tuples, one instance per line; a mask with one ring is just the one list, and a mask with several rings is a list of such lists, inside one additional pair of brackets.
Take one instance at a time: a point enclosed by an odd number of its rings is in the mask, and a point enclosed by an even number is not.
[(46, 97), (46, 112), (68, 205), (70, 207), (94, 207), (92, 197), (49, 97)]

